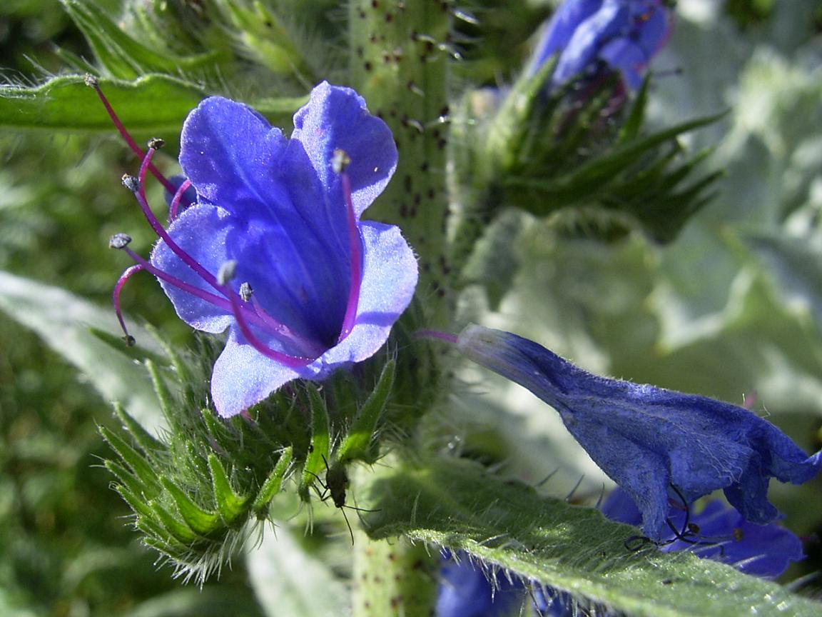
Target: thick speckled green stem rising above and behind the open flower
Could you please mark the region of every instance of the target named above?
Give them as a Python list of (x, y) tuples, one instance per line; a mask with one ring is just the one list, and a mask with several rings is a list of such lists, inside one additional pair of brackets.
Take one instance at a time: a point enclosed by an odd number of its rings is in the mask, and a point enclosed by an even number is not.
[(448, 0), (353, 0), (349, 4), (351, 79), (372, 114), (394, 132), (399, 165), (369, 210), (403, 230), (419, 255), (427, 325), (450, 322), (446, 250), (448, 196)]

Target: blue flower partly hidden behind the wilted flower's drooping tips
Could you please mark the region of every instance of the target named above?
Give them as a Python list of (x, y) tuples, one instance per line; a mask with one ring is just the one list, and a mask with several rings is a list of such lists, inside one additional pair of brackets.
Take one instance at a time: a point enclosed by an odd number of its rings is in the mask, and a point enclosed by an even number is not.
[[(603, 514), (612, 521), (640, 525), (642, 513), (626, 491), (612, 491), (602, 506)], [(704, 559), (730, 564), (746, 574), (762, 578), (777, 578), (792, 561), (805, 559), (802, 542), (792, 531), (778, 523), (756, 525), (718, 499), (712, 499), (697, 513), (686, 512), (672, 501), (668, 520), (674, 529), (683, 530), (686, 523), (695, 526), (686, 530), (686, 538), (669, 540), (660, 546), (665, 552), (690, 550)]]

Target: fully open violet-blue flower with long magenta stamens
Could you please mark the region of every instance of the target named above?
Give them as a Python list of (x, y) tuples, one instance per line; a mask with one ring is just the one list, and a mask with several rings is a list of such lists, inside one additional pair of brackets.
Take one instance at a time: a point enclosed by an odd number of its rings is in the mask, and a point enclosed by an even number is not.
[[(316, 86), (290, 139), (244, 104), (202, 101), (182, 128), (185, 180), (169, 183), (177, 191), (168, 230), (145, 203), (152, 153), (139, 179), (124, 183), (160, 239), (150, 261), (126, 250), (157, 276), (183, 321), (228, 329), (211, 378), (220, 415), (383, 346), (418, 271), (397, 227), (360, 220), (394, 173), (397, 151), (356, 92)], [(190, 187), (196, 202), (186, 206)]]

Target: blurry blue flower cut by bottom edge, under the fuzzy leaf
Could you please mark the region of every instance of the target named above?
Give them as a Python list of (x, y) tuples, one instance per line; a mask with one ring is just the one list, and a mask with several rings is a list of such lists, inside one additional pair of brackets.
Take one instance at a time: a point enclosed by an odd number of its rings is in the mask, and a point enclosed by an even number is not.
[(507, 617), (524, 597), (521, 582), (490, 574), (460, 554), (459, 562), (444, 554), (441, 582), (436, 596), (436, 617)]

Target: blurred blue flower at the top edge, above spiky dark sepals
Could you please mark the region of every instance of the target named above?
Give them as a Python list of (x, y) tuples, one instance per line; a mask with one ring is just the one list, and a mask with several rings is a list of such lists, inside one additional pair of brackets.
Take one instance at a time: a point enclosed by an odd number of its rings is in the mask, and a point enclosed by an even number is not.
[(607, 67), (636, 90), (667, 39), (669, 21), (662, 0), (566, 0), (543, 30), (529, 72), (559, 54), (552, 89)]

